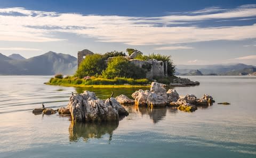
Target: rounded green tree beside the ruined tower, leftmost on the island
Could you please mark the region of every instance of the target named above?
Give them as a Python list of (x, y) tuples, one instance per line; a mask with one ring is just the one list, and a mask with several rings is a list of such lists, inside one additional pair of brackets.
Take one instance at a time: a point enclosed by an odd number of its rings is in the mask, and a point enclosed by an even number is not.
[(75, 76), (83, 78), (85, 76), (101, 75), (101, 72), (106, 68), (106, 63), (102, 55), (93, 54), (87, 55), (83, 62), (79, 65)]

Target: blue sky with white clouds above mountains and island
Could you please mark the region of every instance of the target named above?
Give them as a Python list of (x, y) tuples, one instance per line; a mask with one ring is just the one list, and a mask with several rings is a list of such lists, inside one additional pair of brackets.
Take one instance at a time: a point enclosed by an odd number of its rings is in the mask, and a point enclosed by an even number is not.
[(256, 1), (1, 0), (6, 56), (126, 48), (171, 56), (175, 65), (256, 65)]

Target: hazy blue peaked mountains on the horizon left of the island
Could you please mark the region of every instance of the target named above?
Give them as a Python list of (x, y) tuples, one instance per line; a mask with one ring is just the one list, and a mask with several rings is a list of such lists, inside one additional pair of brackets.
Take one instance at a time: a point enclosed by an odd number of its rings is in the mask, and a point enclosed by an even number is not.
[(74, 74), (77, 58), (49, 51), (29, 59), (12, 59), (0, 54), (0, 74), (2, 75), (54, 75)]

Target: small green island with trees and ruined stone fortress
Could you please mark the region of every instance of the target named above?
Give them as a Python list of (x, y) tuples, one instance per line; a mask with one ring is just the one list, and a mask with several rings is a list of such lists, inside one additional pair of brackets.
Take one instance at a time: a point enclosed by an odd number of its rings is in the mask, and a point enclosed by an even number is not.
[[(187, 78), (174, 76), (171, 56), (143, 55), (139, 50), (127, 48), (125, 53), (112, 51), (94, 54), (90, 50), (78, 51), (78, 68), (73, 76), (57, 74), (46, 84), (84, 87), (150, 87), (157, 81), (170, 86), (199, 85)], [(186, 80), (182, 80), (186, 79)]]

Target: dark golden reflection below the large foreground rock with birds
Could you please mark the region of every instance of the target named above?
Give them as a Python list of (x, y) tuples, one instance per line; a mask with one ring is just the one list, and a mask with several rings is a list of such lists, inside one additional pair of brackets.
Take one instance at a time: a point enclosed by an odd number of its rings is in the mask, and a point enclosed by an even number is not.
[(69, 141), (77, 142), (79, 139), (87, 142), (89, 139), (102, 138), (103, 135), (108, 134), (110, 143), (113, 135), (113, 131), (118, 127), (118, 122), (101, 123), (101, 124), (84, 124), (76, 122), (70, 123), (69, 126)]

